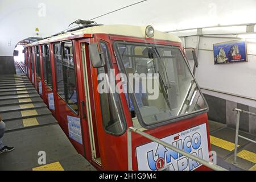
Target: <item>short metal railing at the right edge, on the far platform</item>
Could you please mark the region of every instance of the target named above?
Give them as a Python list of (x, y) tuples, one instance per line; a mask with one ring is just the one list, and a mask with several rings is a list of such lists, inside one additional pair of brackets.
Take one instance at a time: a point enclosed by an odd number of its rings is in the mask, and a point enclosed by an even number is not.
[(238, 165), (238, 163), (237, 163), (238, 138), (242, 138), (242, 139), (248, 140), (249, 142), (256, 143), (256, 141), (254, 141), (254, 140), (251, 140), (249, 138), (246, 138), (246, 137), (243, 137), (243, 136), (239, 135), (240, 113), (245, 113), (245, 114), (254, 115), (254, 116), (256, 116), (256, 114), (255, 113), (250, 113), (250, 112), (245, 111), (245, 110), (237, 109), (237, 108), (233, 109), (233, 111), (237, 111), (236, 139), (235, 139), (234, 161), (233, 161), (233, 164), (237, 166)]

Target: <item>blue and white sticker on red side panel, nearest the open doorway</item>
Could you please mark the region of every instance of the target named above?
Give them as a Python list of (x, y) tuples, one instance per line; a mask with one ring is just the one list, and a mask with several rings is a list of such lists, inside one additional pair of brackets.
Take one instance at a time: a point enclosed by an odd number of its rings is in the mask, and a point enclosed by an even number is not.
[(82, 144), (80, 118), (76, 118), (68, 115), (68, 133), (70, 138)]

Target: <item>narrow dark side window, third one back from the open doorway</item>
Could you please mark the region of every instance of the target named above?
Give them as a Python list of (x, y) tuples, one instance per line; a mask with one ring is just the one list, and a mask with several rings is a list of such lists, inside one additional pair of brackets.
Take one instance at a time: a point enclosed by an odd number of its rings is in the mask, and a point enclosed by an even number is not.
[(43, 78), (49, 88), (52, 89), (52, 69), (51, 69), (51, 57), (49, 55), (49, 44), (42, 46), (43, 56)]

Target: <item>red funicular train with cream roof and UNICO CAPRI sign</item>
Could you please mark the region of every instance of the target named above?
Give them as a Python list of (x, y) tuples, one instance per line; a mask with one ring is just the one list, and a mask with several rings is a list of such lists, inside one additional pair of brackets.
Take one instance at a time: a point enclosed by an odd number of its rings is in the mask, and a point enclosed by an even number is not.
[[(208, 105), (183, 52), (180, 38), (152, 26), (88, 23), (28, 44), (26, 64), (76, 150), (97, 169), (127, 170), (131, 126), (209, 160)], [(155, 92), (131, 84), (135, 73)], [(125, 76), (138, 92), (124, 92)], [(135, 133), (132, 151), (134, 170), (207, 169)]]

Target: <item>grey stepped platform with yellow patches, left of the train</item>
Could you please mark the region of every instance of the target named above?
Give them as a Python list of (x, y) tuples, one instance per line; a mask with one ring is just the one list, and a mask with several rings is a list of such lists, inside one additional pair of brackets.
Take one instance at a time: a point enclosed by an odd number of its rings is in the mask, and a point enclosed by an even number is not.
[[(20, 84), (15, 84), (14, 77), (27, 84), (16, 88)], [(30, 100), (20, 102), (22, 94), (17, 92), (20, 90), (27, 90), (28, 96), (24, 98)], [(22, 104), (32, 104), (32, 107), (23, 108)], [(23, 111), (31, 110), (35, 110), (36, 114), (22, 115)], [(77, 153), (26, 76), (0, 76), (0, 114), (6, 123), (3, 143), (15, 147), (14, 151), (0, 154), (0, 171), (40, 167), (40, 151), (46, 152), (46, 164), (59, 162), (64, 170), (95, 170)], [(24, 125), (26, 119), (34, 119), (36, 123)]]

